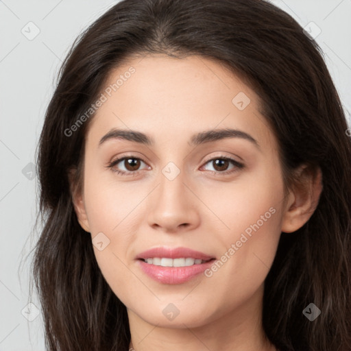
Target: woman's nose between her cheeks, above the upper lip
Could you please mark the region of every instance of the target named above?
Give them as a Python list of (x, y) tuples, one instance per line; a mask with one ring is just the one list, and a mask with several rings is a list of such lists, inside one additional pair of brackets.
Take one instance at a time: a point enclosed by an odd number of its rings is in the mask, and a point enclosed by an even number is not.
[(160, 174), (158, 186), (148, 199), (147, 222), (156, 230), (175, 233), (199, 226), (201, 201), (195, 189), (180, 172), (174, 179)]

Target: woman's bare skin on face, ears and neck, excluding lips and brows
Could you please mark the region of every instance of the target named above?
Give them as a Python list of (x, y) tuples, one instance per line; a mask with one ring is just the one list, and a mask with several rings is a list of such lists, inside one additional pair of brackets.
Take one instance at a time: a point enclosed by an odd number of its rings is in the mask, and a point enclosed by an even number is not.
[[(133, 347), (149, 350), (276, 350), (262, 328), (263, 288), (281, 232), (303, 226), (317, 206), (321, 174), (300, 170), (304, 186), (285, 194), (276, 137), (259, 112), (258, 95), (218, 62), (189, 56), (130, 58), (115, 69), (106, 86), (133, 66), (135, 73), (97, 110), (86, 135), (84, 186), (73, 196), (77, 218), (94, 238), (97, 263), (112, 291), (128, 310)], [(245, 93), (250, 104), (232, 103)], [(154, 138), (147, 146), (109, 140), (111, 128), (138, 130)], [(235, 128), (250, 134), (196, 147), (197, 132)], [(176, 145), (176, 147), (175, 147)], [(141, 158), (136, 175), (119, 175), (106, 167), (117, 157)], [(219, 156), (243, 162), (234, 173), (230, 162), (215, 168)], [(162, 169), (173, 162), (180, 170), (169, 180)], [(131, 171), (124, 161), (114, 166)], [(132, 170), (133, 171), (133, 170)], [(135, 172), (135, 171), (134, 171)], [(156, 282), (138, 267), (135, 256), (165, 245), (190, 247), (221, 258), (262, 215), (264, 221), (213, 276), (189, 282)], [(88, 235), (88, 233), (87, 233)], [(162, 313), (174, 304), (179, 315)]]

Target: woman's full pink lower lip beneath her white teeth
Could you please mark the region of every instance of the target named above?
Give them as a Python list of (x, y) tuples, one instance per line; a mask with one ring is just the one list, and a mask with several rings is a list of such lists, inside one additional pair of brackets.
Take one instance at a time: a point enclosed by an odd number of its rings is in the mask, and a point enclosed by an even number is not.
[(188, 282), (197, 274), (202, 273), (205, 269), (208, 269), (215, 258), (212, 260), (202, 263), (201, 265), (191, 265), (186, 267), (162, 267), (151, 265), (143, 260), (138, 260), (138, 263), (149, 277), (163, 284), (182, 284)]

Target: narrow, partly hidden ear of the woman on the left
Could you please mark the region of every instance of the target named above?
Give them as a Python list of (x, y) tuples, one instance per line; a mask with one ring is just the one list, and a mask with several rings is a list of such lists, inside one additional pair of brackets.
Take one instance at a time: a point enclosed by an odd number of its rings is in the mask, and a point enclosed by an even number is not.
[(88, 217), (86, 215), (86, 209), (84, 205), (84, 197), (82, 194), (82, 186), (77, 186), (77, 169), (70, 169), (68, 176), (72, 203), (75, 210), (75, 214), (77, 215), (77, 220), (80, 223), (80, 226), (86, 232), (90, 232)]

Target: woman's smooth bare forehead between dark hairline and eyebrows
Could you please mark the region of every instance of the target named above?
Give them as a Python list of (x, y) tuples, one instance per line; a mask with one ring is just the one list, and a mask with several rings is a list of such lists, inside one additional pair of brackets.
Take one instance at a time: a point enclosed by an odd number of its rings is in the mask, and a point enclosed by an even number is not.
[(254, 90), (223, 64), (199, 56), (131, 58), (111, 71), (101, 94), (104, 102), (90, 121), (90, 140), (110, 128), (177, 136), (178, 141), (187, 133), (237, 128), (271, 139)]

